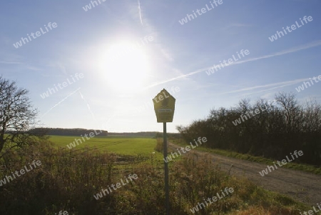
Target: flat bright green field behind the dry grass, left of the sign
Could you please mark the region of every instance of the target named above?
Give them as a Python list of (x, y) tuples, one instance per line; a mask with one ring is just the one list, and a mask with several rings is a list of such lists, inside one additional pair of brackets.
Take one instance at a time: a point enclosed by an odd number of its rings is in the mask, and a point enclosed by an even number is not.
[[(65, 147), (67, 144), (79, 139), (79, 136), (51, 136), (49, 141), (55, 146)], [(100, 151), (108, 151), (116, 154), (152, 154), (156, 146), (156, 139), (153, 138), (115, 138), (115, 137), (93, 137), (82, 144), (76, 145), (73, 149), (84, 149), (86, 147), (96, 148)]]

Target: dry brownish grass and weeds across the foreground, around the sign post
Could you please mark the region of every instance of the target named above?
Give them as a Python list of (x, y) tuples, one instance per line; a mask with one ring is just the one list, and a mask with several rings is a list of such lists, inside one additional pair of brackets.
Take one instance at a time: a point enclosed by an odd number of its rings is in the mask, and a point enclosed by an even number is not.
[[(34, 159), (41, 160), (42, 165), (0, 186), (0, 214), (58, 214), (61, 210), (81, 215), (164, 214), (163, 166), (157, 157), (141, 156), (141, 161), (120, 168), (116, 154), (103, 154), (95, 149), (70, 151), (42, 142), (14, 151), (1, 161), (4, 166), (0, 179)], [(128, 162), (132, 161), (128, 157)], [(93, 198), (128, 174), (137, 174), (138, 179), (99, 200)], [(190, 154), (170, 162), (171, 214), (192, 214), (193, 206), (225, 187), (232, 187), (233, 194), (197, 214), (286, 215), (307, 209), (292, 199), (264, 191), (247, 179), (223, 173), (218, 164), (206, 157), (196, 159)]]

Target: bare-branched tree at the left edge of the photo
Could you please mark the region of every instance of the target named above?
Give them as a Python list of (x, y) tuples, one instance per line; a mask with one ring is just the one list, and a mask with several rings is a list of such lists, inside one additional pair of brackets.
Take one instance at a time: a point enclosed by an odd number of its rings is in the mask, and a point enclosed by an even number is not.
[(0, 76), (0, 157), (15, 147), (35, 141), (29, 129), (36, 124), (37, 112), (27, 94), (15, 81)]

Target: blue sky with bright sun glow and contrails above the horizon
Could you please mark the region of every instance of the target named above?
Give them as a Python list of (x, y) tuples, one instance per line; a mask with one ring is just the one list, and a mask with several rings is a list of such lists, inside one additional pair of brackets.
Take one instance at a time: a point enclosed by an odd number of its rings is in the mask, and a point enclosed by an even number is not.
[(4, 1), (0, 76), (28, 89), (39, 126), (54, 128), (163, 131), (152, 101), (162, 89), (176, 99), (168, 132), (280, 91), (321, 103), (320, 8), (320, 0)]

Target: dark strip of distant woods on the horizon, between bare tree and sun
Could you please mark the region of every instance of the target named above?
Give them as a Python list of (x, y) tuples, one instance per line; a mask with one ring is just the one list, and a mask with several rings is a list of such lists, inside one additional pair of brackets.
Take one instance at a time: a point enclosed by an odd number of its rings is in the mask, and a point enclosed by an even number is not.
[[(83, 134), (95, 133), (93, 129), (53, 129), (53, 128), (35, 128), (29, 130), (31, 134), (58, 135), (58, 136), (81, 136)], [(108, 131), (96, 130), (96, 136), (108, 136)], [(95, 134), (96, 134), (95, 133)]]

